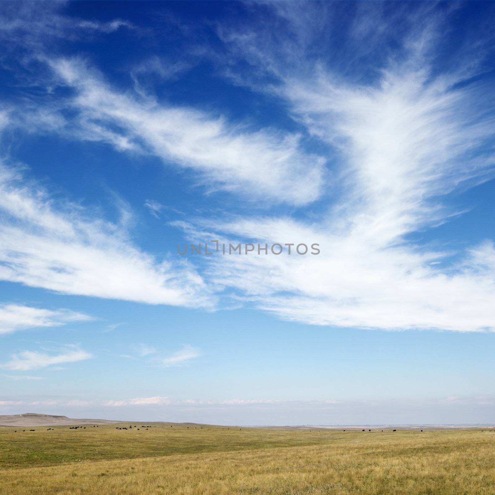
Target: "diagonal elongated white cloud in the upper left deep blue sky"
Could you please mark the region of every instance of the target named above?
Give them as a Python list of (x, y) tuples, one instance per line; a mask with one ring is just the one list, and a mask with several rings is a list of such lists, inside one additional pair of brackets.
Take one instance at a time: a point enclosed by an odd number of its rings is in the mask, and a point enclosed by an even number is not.
[(75, 91), (68, 104), (79, 112), (83, 139), (146, 149), (198, 172), (213, 187), (250, 198), (306, 204), (321, 194), (323, 159), (304, 153), (295, 134), (249, 131), (192, 108), (134, 99), (113, 91), (77, 59), (49, 64), (59, 83)]

